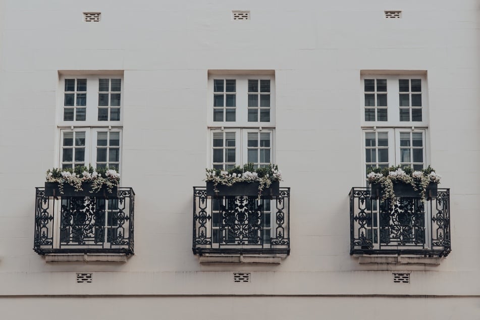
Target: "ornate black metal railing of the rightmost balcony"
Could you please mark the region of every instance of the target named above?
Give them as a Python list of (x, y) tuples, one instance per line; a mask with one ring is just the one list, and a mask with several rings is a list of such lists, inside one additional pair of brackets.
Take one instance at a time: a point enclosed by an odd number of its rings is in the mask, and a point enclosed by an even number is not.
[(447, 256), (451, 251), (450, 189), (437, 197), (370, 198), (369, 188), (350, 190), (350, 254)]

